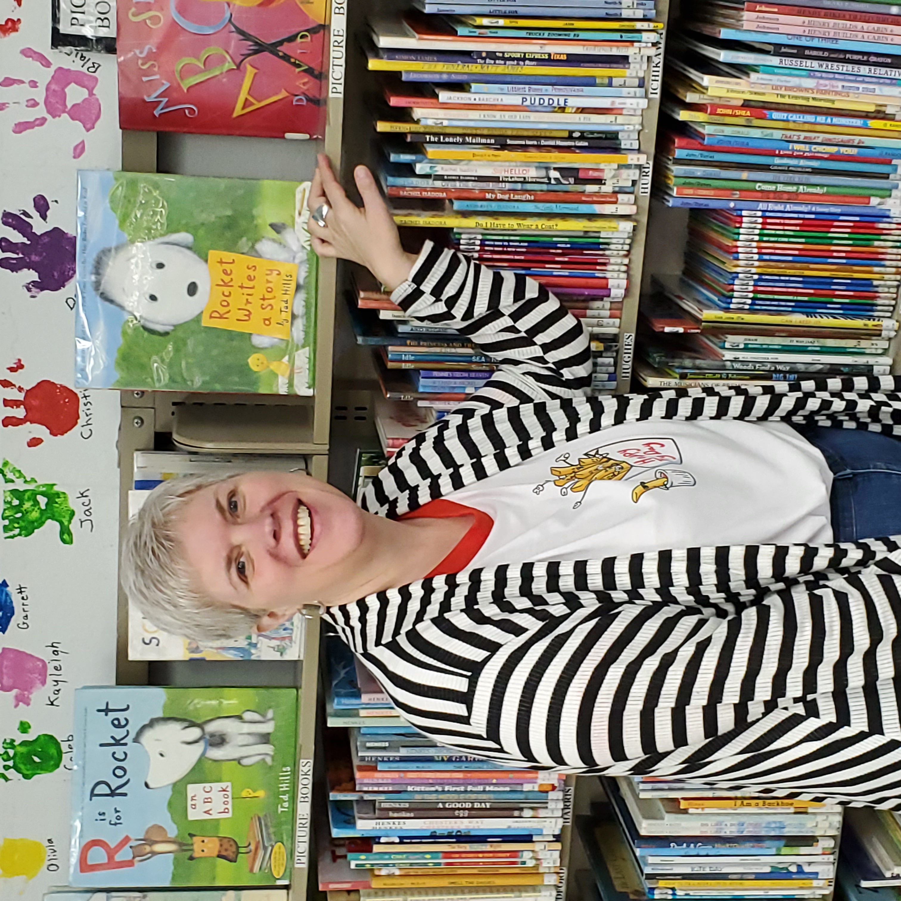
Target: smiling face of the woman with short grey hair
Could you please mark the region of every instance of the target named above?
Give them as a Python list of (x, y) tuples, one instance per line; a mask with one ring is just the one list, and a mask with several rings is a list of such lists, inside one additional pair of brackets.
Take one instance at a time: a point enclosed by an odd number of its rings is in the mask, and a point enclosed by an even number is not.
[(197, 587), (259, 611), (259, 630), (305, 604), (353, 599), (371, 514), (302, 473), (252, 472), (192, 495), (177, 532)]

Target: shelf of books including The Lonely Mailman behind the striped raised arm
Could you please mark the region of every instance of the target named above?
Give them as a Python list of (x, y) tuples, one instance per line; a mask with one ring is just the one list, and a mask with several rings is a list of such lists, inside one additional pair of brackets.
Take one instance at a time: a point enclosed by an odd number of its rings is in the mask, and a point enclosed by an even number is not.
[[(646, 78), (651, 60), (660, 64), (663, 23), (653, 21), (654, 0), (533, 0), (496, 12), (423, 2), (370, 23), (369, 68), (384, 73), (382, 184), (399, 225), (450, 229), (448, 246), (559, 296), (592, 338), (595, 393), (611, 393), (628, 217), (648, 163)], [(469, 376), (458, 367), (454, 385), (410, 379), (410, 394), (459, 403), (448, 395), (490, 378), (471, 356), (479, 369)]]

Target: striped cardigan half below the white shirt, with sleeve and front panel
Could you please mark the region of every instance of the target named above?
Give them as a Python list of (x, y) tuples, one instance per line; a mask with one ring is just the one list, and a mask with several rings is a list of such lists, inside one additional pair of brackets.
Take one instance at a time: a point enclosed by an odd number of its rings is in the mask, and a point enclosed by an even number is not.
[(899, 576), (890, 539), (698, 548), (474, 569), (327, 616), (461, 751), (901, 806)]

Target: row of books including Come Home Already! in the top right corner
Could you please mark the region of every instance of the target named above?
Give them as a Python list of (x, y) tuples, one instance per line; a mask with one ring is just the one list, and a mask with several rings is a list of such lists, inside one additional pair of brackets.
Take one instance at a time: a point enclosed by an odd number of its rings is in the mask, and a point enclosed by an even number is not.
[(663, 290), (696, 321), (751, 314), (767, 328), (741, 340), (652, 333), (645, 385), (890, 371), (899, 43), (901, 15), (880, 2), (688, 8), (668, 58), (655, 192), (692, 212), (682, 278)]

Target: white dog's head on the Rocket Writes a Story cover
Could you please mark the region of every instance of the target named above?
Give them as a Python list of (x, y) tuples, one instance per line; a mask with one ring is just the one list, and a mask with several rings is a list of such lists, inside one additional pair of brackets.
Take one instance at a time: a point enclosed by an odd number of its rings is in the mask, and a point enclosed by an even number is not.
[(147, 241), (114, 253), (100, 287), (142, 325), (165, 332), (203, 312), (210, 273), (187, 247)]

